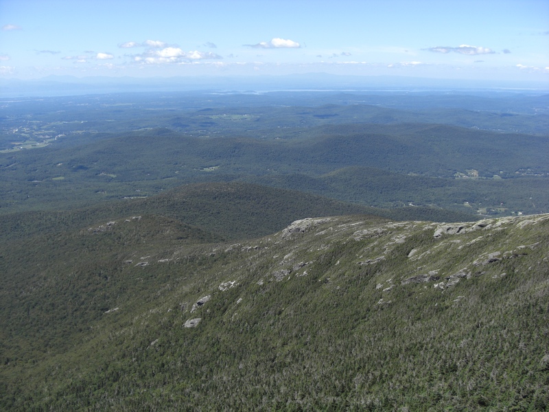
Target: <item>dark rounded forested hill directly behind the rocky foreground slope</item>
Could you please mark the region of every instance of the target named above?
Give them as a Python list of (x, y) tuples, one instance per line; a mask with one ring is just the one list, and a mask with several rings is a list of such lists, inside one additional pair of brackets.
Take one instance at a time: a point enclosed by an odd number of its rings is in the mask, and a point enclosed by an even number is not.
[(266, 235), (282, 229), (292, 220), (307, 216), (372, 214), (394, 220), (439, 222), (474, 220), (476, 217), (439, 207), (366, 207), (250, 183), (195, 183), (156, 196), (128, 198), (80, 209), (0, 215), (0, 233), (6, 242), (30, 236), (58, 236), (103, 220), (142, 214), (176, 219), (226, 239)]

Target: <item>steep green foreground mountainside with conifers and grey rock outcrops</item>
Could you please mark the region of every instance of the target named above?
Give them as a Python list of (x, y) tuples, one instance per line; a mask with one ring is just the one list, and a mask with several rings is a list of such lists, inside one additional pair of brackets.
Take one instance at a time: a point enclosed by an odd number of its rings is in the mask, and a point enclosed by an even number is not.
[[(0, 407), (549, 405), (549, 215), (307, 218), (237, 243), (151, 222), (82, 227), (3, 279)], [(98, 282), (108, 299), (86, 295)]]

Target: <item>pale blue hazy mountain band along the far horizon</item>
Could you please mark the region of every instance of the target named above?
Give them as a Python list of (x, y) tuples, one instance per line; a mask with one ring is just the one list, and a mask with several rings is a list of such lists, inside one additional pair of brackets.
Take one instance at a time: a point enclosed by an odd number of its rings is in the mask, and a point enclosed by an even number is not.
[(278, 90), (549, 90), (544, 82), (486, 82), (399, 76), (336, 76), (307, 73), (288, 76), (204, 76), (171, 78), (130, 78), (91, 76), (47, 76), (36, 80), (1, 79), (0, 93), (8, 96), (71, 95), (124, 91), (278, 91)]

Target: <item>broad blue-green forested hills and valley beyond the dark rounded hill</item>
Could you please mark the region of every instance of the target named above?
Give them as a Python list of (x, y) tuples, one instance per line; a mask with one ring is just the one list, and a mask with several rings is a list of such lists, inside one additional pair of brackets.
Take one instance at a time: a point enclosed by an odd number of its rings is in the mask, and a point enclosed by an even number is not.
[(0, 153), (0, 214), (82, 207), (205, 181), (276, 185), (384, 208), (549, 210), (547, 137), (425, 124), (269, 133), (268, 139), (205, 137), (159, 128), (76, 147)]

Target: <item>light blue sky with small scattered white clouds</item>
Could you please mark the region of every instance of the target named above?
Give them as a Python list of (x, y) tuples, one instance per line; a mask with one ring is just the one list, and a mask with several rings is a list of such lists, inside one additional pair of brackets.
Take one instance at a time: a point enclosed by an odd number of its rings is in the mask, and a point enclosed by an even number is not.
[(0, 0), (0, 78), (549, 82), (549, 0)]

